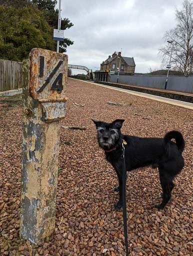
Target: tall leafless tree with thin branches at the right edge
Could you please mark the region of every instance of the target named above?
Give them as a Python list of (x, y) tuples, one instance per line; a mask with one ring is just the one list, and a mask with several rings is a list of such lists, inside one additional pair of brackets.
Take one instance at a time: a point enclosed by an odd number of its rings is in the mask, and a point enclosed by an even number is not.
[[(175, 10), (177, 24), (173, 29), (166, 31), (164, 41), (172, 40), (173, 51), (171, 63), (173, 69), (180, 71), (183, 75), (193, 74), (193, 2), (183, 0), (182, 8)], [(162, 64), (166, 65), (171, 54), (170, 43), (159, 49)]]

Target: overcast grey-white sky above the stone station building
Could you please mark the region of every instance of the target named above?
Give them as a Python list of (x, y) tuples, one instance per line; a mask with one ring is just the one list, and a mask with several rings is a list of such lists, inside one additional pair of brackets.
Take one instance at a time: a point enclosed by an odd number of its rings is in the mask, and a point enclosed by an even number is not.
[(175, 26), (175, 8), (181, 4), (182, 0), (61, 0), (61, 17), (74, 24), (64, 31), (64, 37), (74, 41), (67, 47), (68, 64), (94, 71), (122, 48), (122, 56), (134, 58), (135, 72), (159, 69), (158, 48), (165, 31)]

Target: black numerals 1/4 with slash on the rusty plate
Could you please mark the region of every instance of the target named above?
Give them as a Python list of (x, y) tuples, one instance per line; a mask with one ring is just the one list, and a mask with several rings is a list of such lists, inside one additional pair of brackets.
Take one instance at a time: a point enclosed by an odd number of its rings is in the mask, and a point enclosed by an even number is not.
[[(54, 66), (53, 70), (51, 73), (48, 75), (48, 77), (45, 79), (43, 85), (37, 90), (37, 92), (41, 92), (45, 86), (49, 83), (53, 75), (56, 73), (60, 65), (63, 63), (63, 60), (59, 60), (56, 65)], [(44, 74), (44, 56), (39, 56), (39, 76), (43, 76)], [(58, 90), (60, 93), (63, 89), (63, 84), (62, 84), (62, 77), (63, 73), (59, 73), (57, 77), (54, 79), (54, 81), (51, 84), (51, 90)]]

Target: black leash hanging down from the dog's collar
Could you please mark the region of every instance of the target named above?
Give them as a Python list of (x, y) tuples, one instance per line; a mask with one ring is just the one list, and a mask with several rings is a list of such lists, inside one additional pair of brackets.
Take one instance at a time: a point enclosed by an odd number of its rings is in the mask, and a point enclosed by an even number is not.
[(122, 139), (122, 212), (123, 212), (123, 225), (124, 225), (124, 242), (126, 247), (126, 256), (128, 256), (128, 239), (127, 239), (127, 220), (126, 220), (126, 171), (124, 160), (124, 139)]

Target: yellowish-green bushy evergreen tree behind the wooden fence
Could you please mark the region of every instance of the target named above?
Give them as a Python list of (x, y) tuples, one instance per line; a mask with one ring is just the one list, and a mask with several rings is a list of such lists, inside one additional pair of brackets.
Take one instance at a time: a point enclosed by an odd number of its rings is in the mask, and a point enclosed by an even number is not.
[(21, 61), (35, 47), (54, 50), (43, 13), (34, 7), (0, 6), (0, 58)]

